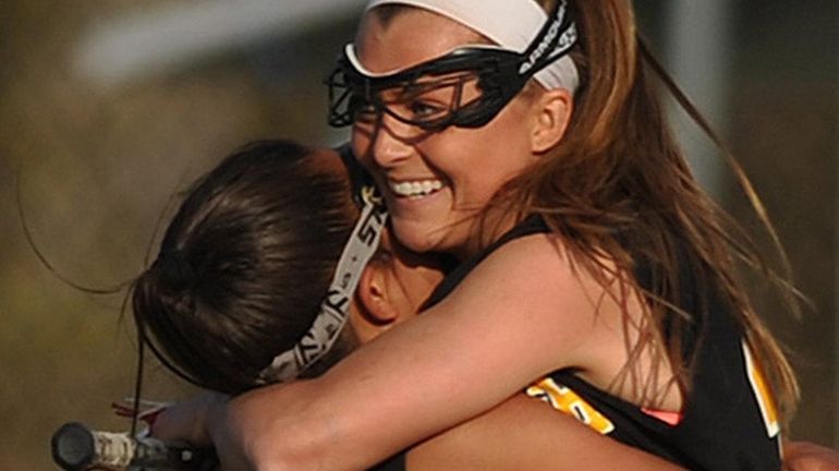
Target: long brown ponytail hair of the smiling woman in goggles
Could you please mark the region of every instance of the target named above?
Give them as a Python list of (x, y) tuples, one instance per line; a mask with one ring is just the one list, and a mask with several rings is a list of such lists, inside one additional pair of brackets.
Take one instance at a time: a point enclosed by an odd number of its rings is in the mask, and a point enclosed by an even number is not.
[[(554, 1), (539, 3), (549, 10)], [(615, 277), (627, 279), (642, 259), (652, 267), (650, 287), (631, 288), (648, 303), (644, 322), (636, 326), (640, 341), (628, 347), (630, 361), (622, 375), (622, 379), (641, 385), (645, 400), (655, 401), (649, 394), (655, 396), (656, 391), (648, 389), (656, 386), (655, 374), (640, 378), (635, 360), (657, 341), (665, 352), (654, 360), (653, 372), (668, 360), (682, 391), (690, 389), (692, 358), (683, 354), (683, 343), (696, 319), (679, 309), (680, 270), (686, 264), (694, 274), (697, 298), (716, 290), (732, 306), (750, 347), (762, 359), (780, 416), (788, 422), (798, 402), (795, 376), (778, 342), (755, 314), (735, 271), (739, 262), (757, 268), (780, 286), (790, 307), (797, 311), (788, 275), (775, 275), (767, 267), (744, 231), (691, 174), (658, 104), (650, 72), (659, 74), (691, 116), (709, 131), (707, 123), (641, 44), (631, 1), (574, 3), (582, 41), (572, 57), (582, 86), (574, 98), (571, 124), (557, 148), (536, 168), (509, 182), (496, 203), (513, 204), (520, 214), (542, 214), (574, 263), (604, 285)], [(775, 237), (747, 179), (731, 162)], [(617, 268), (601, 262), (604, 255)], [(780, 256), (786, 261), (782, 250)]]

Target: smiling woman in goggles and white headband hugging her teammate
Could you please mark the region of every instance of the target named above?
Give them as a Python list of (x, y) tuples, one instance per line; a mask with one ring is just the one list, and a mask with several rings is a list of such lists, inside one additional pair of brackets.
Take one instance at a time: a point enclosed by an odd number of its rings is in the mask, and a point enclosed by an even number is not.
[(544, 377), (534, 395), (688, 468), (779, 469), (798, 388), (735, 274), (763, 265), (645, 59), (628, 0), (372, 1), (332, 122), (399, 241), (461, 265), (326, 375), (210, 411), (222, 462), (364, 468)]

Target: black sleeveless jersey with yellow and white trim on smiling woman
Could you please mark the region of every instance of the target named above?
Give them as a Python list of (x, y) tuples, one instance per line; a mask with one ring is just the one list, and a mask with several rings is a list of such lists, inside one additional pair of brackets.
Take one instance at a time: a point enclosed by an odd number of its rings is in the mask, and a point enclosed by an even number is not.
[[(504, 243), (548, 231), (540, 217), (525, 219), (450, 273), (425, 307), (445, 299), (475, 266)], [(637, 282), (648, 288), (649, 267), (643, 261), (637, 265)], [(780, 470), (777, 418), (759, 365), (745, 347), (743, 330), (719, 295), (712, 292), (707, 299), (695, 299), (692, 291), (696, 280), (689, 269), (683, 271), (680, 286), (685, 292), (680, 297), (681, 307), (697, 318), (693, 336), (689, 334), (685, 345), (689, 350), (696, 348), (698, 351), (695, 352), (691, 390), (684, 398), (682, 418), (677, 425), (597, 388), (570, 369), (556, 371), (546, 381), (561, 391), (571, 391), (569, 412), (581, 421), (599, 425), (601, 433), (619, 442), (688, 469)], [(592, 415), (597, 415), (599, 424), (593, 423)], [(404, 469), (404, 456), (394, 457), (388, 464), (380, 469)], [(546, 462), (546, 467), (550, 468), (550, 462)]]

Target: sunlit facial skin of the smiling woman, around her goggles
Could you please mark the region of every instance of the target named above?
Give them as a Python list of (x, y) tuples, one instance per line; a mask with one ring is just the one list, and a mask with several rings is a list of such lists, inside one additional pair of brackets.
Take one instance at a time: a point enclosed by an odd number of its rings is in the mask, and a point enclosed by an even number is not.
[[(416, 32), (434, 31), (416, 40)], [(372, 72), (390, 72), (439, 57), (458, 46), (478, 43), (472, 31), (425, 11), (411, 11), (387, 27), (368, 21), (356, 43), (360, 60)], [(478, 90), (464, 86), (464, 101)], [(451, 90), (424, 94), (414, 108), (448, 107)], [(420, 109), (422, 111), (422, 109)], [(531, 102), (516, 98), (479, 129), (448, 128), (421, 138), (414, 126), (385, 113), (379, 126), (354, 126), (353, 147), (374, 174), (390, 212), (396, 237), (416, 252), (474, 252), (472, 218), (500, 184), (538, 158), (532, 149)], [(479, 169), (479, 171), (476, 171)], [(402, 182), (439, 181), (431, 194), (414, 197), (394, 193)], [(509, 226), (508, 226), (509, 227)]]

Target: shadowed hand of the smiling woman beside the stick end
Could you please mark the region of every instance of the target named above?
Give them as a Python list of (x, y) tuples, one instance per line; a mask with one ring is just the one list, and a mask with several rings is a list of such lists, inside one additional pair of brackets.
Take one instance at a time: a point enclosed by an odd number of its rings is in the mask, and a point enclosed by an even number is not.
[(212, 445), (207, 433), (210, 414), (223, 409), (228, 396), (204, 392), (163, 409), (151, 427), (151, 436), (162, 440), (183, 440), (196, 447)]

